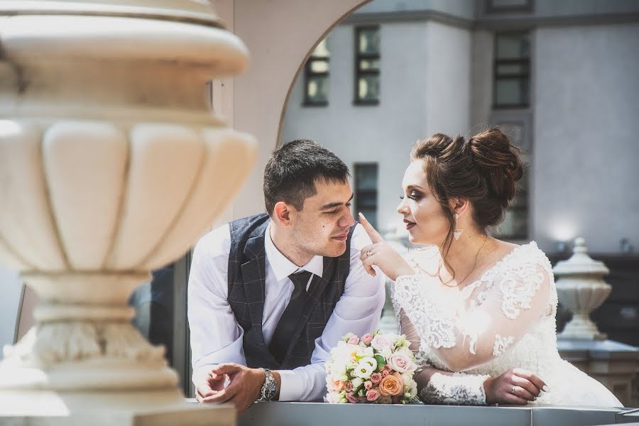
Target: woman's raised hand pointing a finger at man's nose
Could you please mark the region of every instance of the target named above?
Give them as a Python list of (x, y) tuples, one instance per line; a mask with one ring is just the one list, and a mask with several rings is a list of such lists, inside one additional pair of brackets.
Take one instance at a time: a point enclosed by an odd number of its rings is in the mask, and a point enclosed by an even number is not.
[(395, 281), (399, 275), (413, 275), (415, 273), (404, 258), (384, 241), (379, 232), (366, 220), (364, 214), (359, 214), (359, 222), (361, 226), (364, 226), (366, 234), (368, 234), (368, 236), (371, 237), (371, 241), (373, 241), (373, 244), (361, 249), (359, 256), (361, 263), (364, 263), (366, 272), (375, 276), (373, 265), (376, 265), (393, 281)]

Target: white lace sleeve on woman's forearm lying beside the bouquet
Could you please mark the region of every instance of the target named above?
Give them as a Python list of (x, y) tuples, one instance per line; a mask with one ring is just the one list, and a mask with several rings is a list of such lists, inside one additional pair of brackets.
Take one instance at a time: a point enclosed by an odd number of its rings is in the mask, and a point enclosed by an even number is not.
[(484, 381), (490, 376), (437, 372), (420, 391), (426, 404), (486, 405)]

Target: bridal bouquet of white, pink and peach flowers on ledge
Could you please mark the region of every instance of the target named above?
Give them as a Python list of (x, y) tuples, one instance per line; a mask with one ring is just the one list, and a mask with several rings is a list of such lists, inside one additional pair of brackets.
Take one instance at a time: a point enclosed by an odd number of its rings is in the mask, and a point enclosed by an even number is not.
[(417, 395), (417, 364), (408, 346), (403, 334), (346, 334), (327, 363), (327, 402), (408, 403)]

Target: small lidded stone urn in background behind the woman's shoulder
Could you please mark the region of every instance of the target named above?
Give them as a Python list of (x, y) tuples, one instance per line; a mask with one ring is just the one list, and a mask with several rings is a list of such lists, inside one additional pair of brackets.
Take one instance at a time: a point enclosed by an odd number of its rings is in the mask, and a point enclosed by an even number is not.
[(557, 280), (559, 302), (572, 312), (572, 320), (559, 339), (599, 340), (606, 334), (599, 332), (590, 319), (590, 313), (610, 295), (611, 285), (603, 281), (610, 271), (601, 261), (594, 261), (587, 254), (586, 241), (574, 240), (574, 254), (566, 261), (559, 261), (552, 268)]

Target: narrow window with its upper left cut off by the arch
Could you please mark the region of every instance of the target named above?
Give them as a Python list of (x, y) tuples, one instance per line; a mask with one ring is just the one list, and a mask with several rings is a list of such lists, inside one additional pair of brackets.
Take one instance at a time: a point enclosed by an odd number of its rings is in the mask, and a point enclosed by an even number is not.
[(306, 61), (304, 77), (304, 105), (317, 107), (328, 105), (329, 50), (326, 38), (320, 41)]

